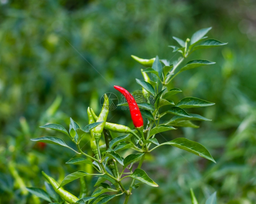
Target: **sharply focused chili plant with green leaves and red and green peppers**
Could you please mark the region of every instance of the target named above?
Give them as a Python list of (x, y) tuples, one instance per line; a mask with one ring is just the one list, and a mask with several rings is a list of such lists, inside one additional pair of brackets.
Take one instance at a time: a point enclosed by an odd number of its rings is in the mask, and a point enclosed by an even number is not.
[[(142, 59), (132, 55), (133, 59), (146, 67), (141, 69), (144, 80), (136, 79), (136, 82), (142, 88), (141, 93), (143, 93), (145, 102), (136, 103), (133, 95), (129, 93), (129, 91), (132, 91), (129, 90), (129, 87), (125, 89), (121, 86), (114, 86), (114, 88), (126, 98), (127, 103), (119, 105), (129, 107), (131, 118), (127, 118), (127, 120), (132, 120), (134, 127), (108, 122), (109, 100), (106, 94), (104, 95), (104, 104), (99, 115), (88, 107), (89, 124), (83, 128), (79, 127), (72, 118), (70, 118), (69, 130), (58, 124), (41, 126), (42, 128), (50, 128), (63, 133), (65, 135), (65, 138), (63, 137), (64, 140), (57, 137), (44, 136), (31, 139), (32, 141), (56, 144), (71, 149), (76, 153), (76, 157), (66, 163), (85, 163), (91, 165), (94, 168), (94, 172), (88, 173), (79, 170), (67, 175), (60, 184), (42, 172), (54, 191), (49, 190), (49, 187), (46, 188), (47, 192), (39, 188), (27, 189), (50, 203), (103, 204), (111, 201), (114, 197), (122, 196), (123, 203), (126, 204), (132, 195), (132, 191), (142, 184), (158, 187), (158, 184), (153, 181), (154, 178), (149, 178), (141, 166), (147, 154), (163, 145), (171, 145), (215, 162), (208, 150), (195, 141), (186, 138), (175, 138), (159, 144), (156, 137), (157, 134), (165, 131), (173, 132), (179, 127), (197, 127), (191, 122), (193, 120), (210, 120), (201, 115), (190, 113), (189, 109), (212, 106), (214, 103), (194, 97), (185, 97), (178, 102), (174, 102), (173, 96), (181, 93), (182, 90), (175, 87), (169, 88), (170, 82), (181, 72), (215, 63), (196, 59), (188, 61), (183, 67), (180, 66), (183, 60), (193, 52), (227, 44), (215, 39), (206, 39), (207, 36), (205, 35), (210, 29), (203, 28), (195, 32), (191, 39), (187, 38), (185, 41), (173, 37), (179, 46), (170, 47), (173, 48), (173, 52), (181, 54), (181, 57), (172, 64), (168, 60), (160, 60), (158, 56), (152, 59)], [(115, 93), (117, 94), (118, 92)], [(116, 134), (112, 134), (113, 132), (119, 133), (119, 135), (115, 137), (114, 135)], [(90, 133), (91, 137), (90, 147), (92, 151), (82, 149), (84, 145), (81, 143), (83, 141), (82, 138), (88, 133)], [(173, 134), (175, 135), (175, 133)], [(64, 142), (68, 139), (74, 142), (76, 149), (71, 148)], [(127, 155), (127, 152), (130, 153)], [(88, 189), (88, 185), (83, 179), (85, 176), (97, 177), (94, 189)], [(80, 180), (81, 193), (77, 197), (65, 191), (63, 187), (78, 178)], [(60, 197), (54, 195), (56, 193)], [(192, 202), (197, 203), (194, 196), (192, 196)]]

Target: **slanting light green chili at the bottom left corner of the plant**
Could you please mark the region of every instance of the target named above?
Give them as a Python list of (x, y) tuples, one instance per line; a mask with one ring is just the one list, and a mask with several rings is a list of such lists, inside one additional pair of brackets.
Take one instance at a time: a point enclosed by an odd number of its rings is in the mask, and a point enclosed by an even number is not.
[(57, 181), (55, 181), (53, 178), (51, 178), (51, 176), (48, 176), (46, 173), (44, 173), (42, 171), (43, 176), (46, 178), (46, 180), (51, 184), (51, 186), (53, 187), (54, 191), (60, 195), (60, 197), (62, 197), (66, 202), (68, 203), (75, 203), (77, 202), (77, 200), (79, 200), (76, 196), (74, 196), (73, 194), (71, 194), (68, 191), (65, 191), (63, 188), (59, 188), (60, 186)]

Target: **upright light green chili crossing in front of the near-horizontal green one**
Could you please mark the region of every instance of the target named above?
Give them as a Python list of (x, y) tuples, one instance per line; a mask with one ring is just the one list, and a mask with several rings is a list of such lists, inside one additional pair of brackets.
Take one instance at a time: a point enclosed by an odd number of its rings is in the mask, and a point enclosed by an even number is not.
[(96, 140), (96, 144), (99, 143), (99, 140), (101, 138), (101, 133), (103, 131), (103, 128), (104, 128), (106, 120), (107, 120), (108, 107), (109, 107), (108, 98), (107, 98), (107, 94), (105, 94), (102, 110), (99, 114), (98, 119), (96, 120), (96, 122), (101, 122), (101, 121), (103, 121), (103, 122), (101, 124), (99, 124), (98, 126), (94, 127), (92, 130), (93, 136)]

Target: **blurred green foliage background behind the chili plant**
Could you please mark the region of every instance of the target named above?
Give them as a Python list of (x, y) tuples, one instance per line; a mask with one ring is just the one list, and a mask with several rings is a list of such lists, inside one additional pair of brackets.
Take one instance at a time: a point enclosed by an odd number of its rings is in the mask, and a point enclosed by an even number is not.
[[(183, 90), (180, 97), (216, 103), (198, 109), (213, 121), (164, 136), (200, 142), (217, 164), (159, 148), (143, 169), (160, 187), (134, 190), (130, 203), (187, 204), (190, 188), (199, 203), (214, 191), (219, 204), (256, 203), (255, 10), (252, 0), (0, 0), (0, 203), (47, 203), (25, 189), (43, 186), (41, 170), (62, 179), (85, 168), (65, 164), (71, 151), (30, 141), (59, 136), (38, 126), (68, 127), (72, 117), (84, 127), (87, 107), (98, 112), (104, 93), (117, 94), (113, 85), (139, 89), (143, 67), (130, 55), (177, 60), (168, 47), (177, 45), (172, 36), (185, 40), (210, 26), (207, 36), (229, 44), (193, 53), (187, 61), (217, 63), (180, 74), (173, 87)], [(132, 127), (129, 111), (111, 115), (111, 122)], [(65, 188), (79, 194), (78, 181)]]

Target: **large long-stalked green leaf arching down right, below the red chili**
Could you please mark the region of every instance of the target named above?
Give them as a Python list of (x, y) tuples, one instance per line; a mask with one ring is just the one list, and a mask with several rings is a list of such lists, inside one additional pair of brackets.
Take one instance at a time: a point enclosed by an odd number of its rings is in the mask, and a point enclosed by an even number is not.
[(193, 154), (196, 154), (200, 157), (204, 157), (205, 159), (208, 159), (216, 163), (213, 157), (211, 156), (211, 154), (208, 152), (208, 150), (198, 142), (188, 140), (187, 138), (176, 138), (172, 141), (164, 142), (159, 146), (162, 146), (164, 144), (172, 145), (172, 146), (178, 147), (179, 149), (184, 149), (188, 152), (192, 152)]

